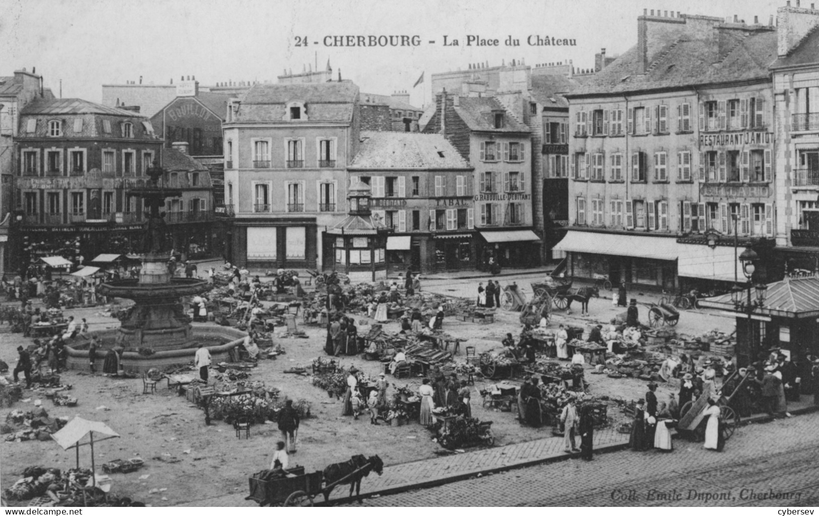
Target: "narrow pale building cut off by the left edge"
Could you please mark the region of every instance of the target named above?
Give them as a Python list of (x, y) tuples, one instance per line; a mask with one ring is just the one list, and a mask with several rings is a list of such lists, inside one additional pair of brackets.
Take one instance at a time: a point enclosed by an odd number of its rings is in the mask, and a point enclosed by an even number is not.
[[(20, 265), (20, 245), (13, 234), (19, 227), (14, 209), (14, 138), (17, 137), (20, 110), (38, 98), (54, 98), (51, 90), (43, 87), (43, 78), (16, 70), (14, 75), (0, 77), (0, 274), (16, 271)], [(11, 230), (11, 231), (10, 231)], [(10, 234), (12, 233), (12, 234)]]

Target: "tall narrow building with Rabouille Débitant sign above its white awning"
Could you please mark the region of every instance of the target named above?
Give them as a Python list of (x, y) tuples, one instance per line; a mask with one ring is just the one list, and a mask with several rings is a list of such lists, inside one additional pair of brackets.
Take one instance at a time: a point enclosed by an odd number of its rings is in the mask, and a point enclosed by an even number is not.
[(444, 135), (473, 166), (477, 267), (495, 258), (504, 267), (539, 262), (532, 231), (532, 131), (491, 96), (441, 92), (424, 132)]

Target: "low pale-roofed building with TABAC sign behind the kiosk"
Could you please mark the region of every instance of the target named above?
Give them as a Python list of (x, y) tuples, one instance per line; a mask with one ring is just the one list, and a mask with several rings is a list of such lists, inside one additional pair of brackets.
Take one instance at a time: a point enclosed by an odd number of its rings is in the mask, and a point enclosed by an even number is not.
[[(387, 270), (473, 269), (476, 257), (473, 168), (440, 134), (361, 132), (347, 168), (352, 184), (370, 186), (369, 208), (384, 222)], [(324, 267), (336, 235), (325, 234)]]

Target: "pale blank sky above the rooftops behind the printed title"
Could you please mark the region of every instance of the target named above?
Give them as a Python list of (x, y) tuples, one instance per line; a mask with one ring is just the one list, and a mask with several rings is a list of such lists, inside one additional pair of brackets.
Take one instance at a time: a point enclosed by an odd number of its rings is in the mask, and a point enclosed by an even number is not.
[[(796, 0), (793, 0), (795, 5)], [(819, 2), (819, 0), (817, 0)], [(803, 0), (808, 7), (810, 0)], [(362, 92), (410, 93), (429, 101), (430, 74), (522, 60), (527, 65), (572, 60), (594, 66), (636, 43), (644, 8), (734, 16), (762, 23), (785, 0), (0, 0), (0, 75), (36, 67), (63, 97), (101, 101), (102, 84), (201, 84), (270, 81), (310, 64), (333, 79), (352, 79)], [(419, 36), (417, 47), (331, 47), (330, 36)], [(473, 35), (495, 46), (467, 46)], [(459, 40), (459, 46), (444, 46)], [(506, 46), (509, 37), (520, 46)], [(527, 38), (568, 38), (573, 47), (530, 46)], [(306, 46), (296, 46), (306, 38)], [(435, 41), (434, 44), (428, 43)], [(314, 44), (318, 43), (318, 44)], [(425, 81), (414, 83), (421, 74)]]

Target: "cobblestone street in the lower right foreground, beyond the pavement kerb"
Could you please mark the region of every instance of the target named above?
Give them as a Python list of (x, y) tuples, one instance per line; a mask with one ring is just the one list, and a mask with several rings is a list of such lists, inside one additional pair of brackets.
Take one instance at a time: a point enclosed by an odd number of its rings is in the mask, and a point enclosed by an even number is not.
[[(597, 455), (591, 463), (543, 464), (364, 500), (364, 505), (817, 505), (817, 424), (814, 413), (745, 426), (722, 453), (676, 439), (671, 453), (622, 451)], [(771, 492), (781, 498), (759, 498)]]

